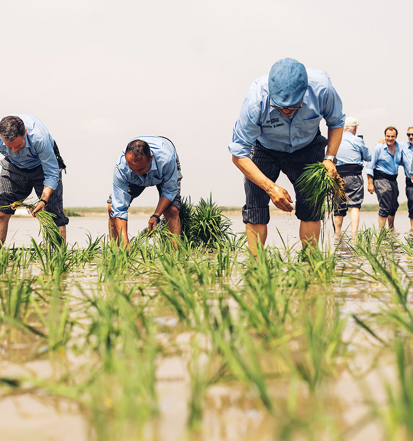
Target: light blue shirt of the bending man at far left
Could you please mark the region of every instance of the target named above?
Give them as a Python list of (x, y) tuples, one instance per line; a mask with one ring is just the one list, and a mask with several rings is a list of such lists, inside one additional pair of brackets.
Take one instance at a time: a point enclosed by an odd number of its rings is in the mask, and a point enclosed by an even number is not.
[(19, 153), (14, 153), (0, 138), (0, 153), (21, 169), (34, 169), (41, 164), (44, 174), (43, 185), (56, 190), (59, 182), (59, 165), (53, 151), (53, 138), (48, 128), (32, 115), (16, 113), (13, 116), (21, 118), (25, 123), (26, 146)]

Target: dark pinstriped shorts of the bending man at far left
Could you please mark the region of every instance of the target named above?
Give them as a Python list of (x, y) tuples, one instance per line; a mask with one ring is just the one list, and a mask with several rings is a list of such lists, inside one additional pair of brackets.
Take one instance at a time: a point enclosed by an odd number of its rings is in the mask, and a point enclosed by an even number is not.
[[(0, 164), (2, 167), (0, 174), (0, 206), (10, 205), (13, 202), (28, 198), (33, 188), (36, 195), (39, 198), (41, 197), (44, 188), (44, 174), (41, 165), (34, 167), (34, 169), (20, 169), (6, 159), (1, 160)], [(45, 210), (56, 214), (54, 220), (58, 227), (69, 223), (69, 218), (63, 213), (63, 185), (60, 171), (58, 186), (50, 196)], [(0, 211), (5, 214), (14, 214), (16, 210), (1, 208)]]

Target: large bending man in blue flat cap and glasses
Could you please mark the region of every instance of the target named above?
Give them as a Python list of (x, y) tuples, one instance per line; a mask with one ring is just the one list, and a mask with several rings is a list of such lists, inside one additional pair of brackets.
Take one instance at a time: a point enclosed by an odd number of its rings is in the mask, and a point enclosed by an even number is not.
[[(320, 132), (320, 120), (328, 127), (328, 140)], [(341, 99), (326, 72), (306, 69), (295, 59), (277, 61), (254, 81), (234, 125), (229, 150), (244, 174), (246, 204), (242, 208), (249, 247), (264, 244), (269, 222), (269, 200), (283, 211), (292, 211), (288, 192), (275, 184), (280, 171), (295, 186), (306, 164), (323, 162), (336, 174), (335, 155), (340, 146), (345, 115)], [(327, 146), (326, 155), (325, 146)], [(321, 218), (295, 189), (295, 215), (300, 219), (303, 246), (318, 242)]]

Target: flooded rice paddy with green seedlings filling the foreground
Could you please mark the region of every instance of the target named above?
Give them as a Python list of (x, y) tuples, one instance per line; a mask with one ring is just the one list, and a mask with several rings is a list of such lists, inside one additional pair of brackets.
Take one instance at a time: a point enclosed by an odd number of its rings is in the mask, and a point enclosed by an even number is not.
[(55, 251), (12, 219), (0, 440), (413, 440), (410, 222), (361, 223), (302, 253), (295, 217), (272, 216), (256, 261), (233, 245), (119, 250), (95, 241), (104, 217), (71, 218)]

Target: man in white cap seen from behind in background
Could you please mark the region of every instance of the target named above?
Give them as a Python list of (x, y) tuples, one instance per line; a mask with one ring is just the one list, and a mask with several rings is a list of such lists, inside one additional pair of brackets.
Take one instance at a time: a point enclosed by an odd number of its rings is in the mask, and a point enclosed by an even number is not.
[(348, 200), (336, 200), (334, 209), (334, 225), (336, 234), (341, 232), (344, 216), (350, 208), (352, 233), (357, 233), (360, 221), (360, 207), (364, 199), (363, 161), (371, 160), (370, 150), (364, 141), (356, 136), (359, 122), (356, 118), (347, 117), (344, 121), (344, 132), (340, 147), (337, 151), (337, 173), (346, 183), (346, 195)]

